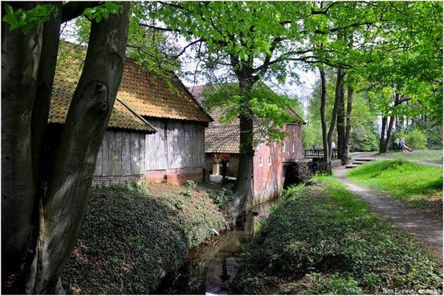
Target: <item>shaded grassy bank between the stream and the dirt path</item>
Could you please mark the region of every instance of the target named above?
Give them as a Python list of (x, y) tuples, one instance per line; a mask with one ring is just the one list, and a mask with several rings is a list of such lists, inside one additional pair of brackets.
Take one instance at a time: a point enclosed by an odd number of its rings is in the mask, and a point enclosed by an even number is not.
[[(382, 294), (440, 289), (442, 265), (332, 177), (290, 188), (239, 255), (234, 293)], [(439, 293), (435, 290), (435, 293)]]

